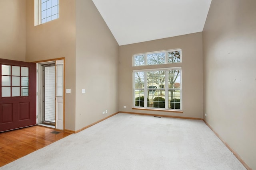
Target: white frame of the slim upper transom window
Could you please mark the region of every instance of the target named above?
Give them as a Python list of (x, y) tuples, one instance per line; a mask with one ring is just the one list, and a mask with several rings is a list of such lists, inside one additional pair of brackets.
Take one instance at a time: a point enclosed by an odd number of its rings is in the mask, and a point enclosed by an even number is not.
[[(181, 49), (172, 49), (172, 50), (154, 51), (154, 52), (149, 52), (149, 53), (134, 54), (132, 57), (132, 66), (136, 66), (135, 65), (135, 57), (138, 55), (144, 55), (144, 65), (139, 65), (139, 66), (149, 66), (148, 62), (147, 62), (147, 56), (150, 54), (156, 54), (156, 53), (165, 53), (165, 61), (164, 61), (164, 63), (161, 63), (161, 64), (174, 64), (174, 63), (168, 63), (168, 53), (173, 52), (173, 51), (180, 51), (180, 62), (178, 62), (178, 63), (182, 63), (182, 50)], [(158, 64), (150, 64), (150, 65), (158, 65)]]

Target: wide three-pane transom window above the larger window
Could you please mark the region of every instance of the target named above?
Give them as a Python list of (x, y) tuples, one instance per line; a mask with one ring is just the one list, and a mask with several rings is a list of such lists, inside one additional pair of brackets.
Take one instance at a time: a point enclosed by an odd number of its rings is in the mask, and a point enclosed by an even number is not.
[(181, 49), (138, 54), (133, 56), (133, 66), (181, 63), (181, 58)]

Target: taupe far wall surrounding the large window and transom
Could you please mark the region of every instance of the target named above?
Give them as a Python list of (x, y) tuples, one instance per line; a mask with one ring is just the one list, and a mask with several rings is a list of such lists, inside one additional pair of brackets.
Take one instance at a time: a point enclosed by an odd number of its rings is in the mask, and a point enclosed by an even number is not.
[[(132, 55), (182, 49), (182, 63), (132, 67)], [(132, 109), (132, 70), (182, 66), (183, 113)], [(120, 46), (120, 111), (202, 118), (202, 32)], [(124, 108), (126, 106), (126, 108)]]

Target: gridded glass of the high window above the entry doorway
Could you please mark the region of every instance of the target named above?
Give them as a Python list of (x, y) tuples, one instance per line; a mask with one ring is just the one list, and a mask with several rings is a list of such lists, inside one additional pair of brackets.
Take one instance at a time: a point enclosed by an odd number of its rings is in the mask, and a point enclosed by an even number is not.
[(41, 0), (41, 23), (59, 18), (59, 0)]

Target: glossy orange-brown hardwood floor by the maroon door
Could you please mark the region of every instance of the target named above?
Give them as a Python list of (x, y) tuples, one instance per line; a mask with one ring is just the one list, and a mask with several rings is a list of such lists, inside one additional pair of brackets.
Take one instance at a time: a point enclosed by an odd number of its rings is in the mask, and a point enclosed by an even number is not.
[(0, 167), (71, 134), (53, 131), (36, 125), (0, 133)]

